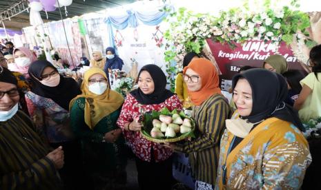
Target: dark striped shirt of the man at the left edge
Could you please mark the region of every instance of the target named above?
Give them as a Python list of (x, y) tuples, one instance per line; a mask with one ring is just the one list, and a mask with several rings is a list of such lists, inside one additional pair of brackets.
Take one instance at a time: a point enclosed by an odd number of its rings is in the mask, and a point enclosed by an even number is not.
[(55, 165), (46, 158), (49, 147), (35, 130), (21, 111), (0, 122), (0, 189), (60, 189)]

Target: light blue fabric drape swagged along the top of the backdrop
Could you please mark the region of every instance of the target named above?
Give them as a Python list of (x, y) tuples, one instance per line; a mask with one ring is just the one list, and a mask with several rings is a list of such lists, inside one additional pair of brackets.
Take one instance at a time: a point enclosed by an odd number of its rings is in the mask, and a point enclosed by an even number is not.
[(127, 10), (124, 15), (107, 17), (105, 22), (108, 27), (109, 47), (116, 48), (113, 28), (124, 30), (128, 25), (130, 28), (136, 28), (138, 21), (142, 21), (145, 25), (158, 25), (167, 17), (168, 12), (160, 11), (164, 7), (167, 9), (170, 8), (171, 10), (174, 9), (173, 6), (163, 6), (162, 8), (157, 8), (157, 10), (148, 10), (146, 12)]

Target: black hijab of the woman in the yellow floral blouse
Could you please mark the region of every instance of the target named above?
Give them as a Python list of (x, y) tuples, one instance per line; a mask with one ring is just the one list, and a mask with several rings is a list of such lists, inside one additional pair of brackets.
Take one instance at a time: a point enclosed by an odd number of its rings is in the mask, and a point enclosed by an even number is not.
[(301, 131), (304, 130), (298, 112), (284, 103), (288, 87), (282, 75), (264, 69), (246, 70), (233, 77), (233, 89), (240, 78), (245, 78), (251, 85), (253, 98), (251, 114), (242, 118), (257, 123), (266, 118), (276, 117), (293, 123)]

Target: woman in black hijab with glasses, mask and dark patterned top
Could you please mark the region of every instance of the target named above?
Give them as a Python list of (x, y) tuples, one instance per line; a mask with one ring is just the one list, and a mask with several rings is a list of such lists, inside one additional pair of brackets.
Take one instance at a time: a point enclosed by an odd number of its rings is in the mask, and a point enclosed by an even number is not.
[(64, 147), (65, 167), (60, 174), (66, 188), (70, 188), (77, 184), (80, 149), (70, 127), (68, 105), (81, 93), (79, 86), (72, 78), (59, 75), (48, 61), (33, 62), (28, 74), (31, 90), (25, 98), (30, 118), (43, 131), (51, 147)]

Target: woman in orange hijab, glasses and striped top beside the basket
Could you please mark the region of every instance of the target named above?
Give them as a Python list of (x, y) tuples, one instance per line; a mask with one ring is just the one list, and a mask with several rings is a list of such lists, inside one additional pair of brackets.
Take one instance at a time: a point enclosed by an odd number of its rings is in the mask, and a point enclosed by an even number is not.
[(204, 58), (193, 59), (184, 68), (183, 74), (194, 105), (192, 117), (199, 135), (192, 141), (170, 146), (175, 151), (189, 154), (196, 179), (195, 189), (213, 189), (220, 138), (231, 109), (221, 94), (217, 70), (211, 61)]

